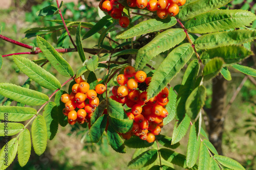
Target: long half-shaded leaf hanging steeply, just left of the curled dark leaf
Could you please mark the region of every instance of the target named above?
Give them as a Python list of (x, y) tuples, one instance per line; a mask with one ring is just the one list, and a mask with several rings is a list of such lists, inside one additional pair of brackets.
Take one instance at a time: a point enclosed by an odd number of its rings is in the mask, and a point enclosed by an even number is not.
[[(185, 71), (185, 74), (182, 79), (182, 83), (179, 87), (178, 96), (177, 96), (177, 119), (179, 120), (179, 123), (183, 119), (186, 110), (185, 110), (185, 104), (186, 100), (189, 96), (189, 94), (193, 91), (194, 85), (197, 80), (197, 76), (199, 73), (199, 63), (198, 60), (191, 61), (187, 69)], [(178, 124), (179, 124), (178, 123)]]

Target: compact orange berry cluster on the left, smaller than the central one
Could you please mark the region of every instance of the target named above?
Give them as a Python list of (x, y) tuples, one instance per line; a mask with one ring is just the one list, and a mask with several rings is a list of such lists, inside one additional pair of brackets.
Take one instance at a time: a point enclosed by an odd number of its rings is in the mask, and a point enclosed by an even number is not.
[(72, 92), (62, 94), (60, 97), (61, 102), (65, 103), (62, 112), (68, 116), (70, 125), (74, 125), (76, 122), (79, 124), (90, 123), (90, 118), (99, 105), (97, 94), (102, 94), (106, 87), (103, 84), (97, 84), (95, 90), (90, 90), (90, 85), (84, 82), (81, 77), (75, 79), (75, 82), (76, 84), (72, 86)]

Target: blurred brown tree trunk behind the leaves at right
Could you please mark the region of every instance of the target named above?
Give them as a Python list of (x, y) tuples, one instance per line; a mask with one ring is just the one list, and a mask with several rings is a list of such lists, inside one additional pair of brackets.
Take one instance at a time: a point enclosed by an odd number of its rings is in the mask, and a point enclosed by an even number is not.
[(209, 116), (209, 140), (222, 155), (222, 134), (224, 129), (224, 109), (226, 103), (227, 81), (220, 74), (212, 81), (212, 102)]

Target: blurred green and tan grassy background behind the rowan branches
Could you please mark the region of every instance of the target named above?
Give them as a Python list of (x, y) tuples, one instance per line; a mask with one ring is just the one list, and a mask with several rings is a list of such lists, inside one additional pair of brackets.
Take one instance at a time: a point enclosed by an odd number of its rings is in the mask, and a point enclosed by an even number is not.
[[(100, 19), (97, 5), (99, 2), (92, 1), (75, 1), (74, 3), (65, 3), (62, 7), (62, 13), (65, 20), (71, 21), (87, 21), (96, 22)], [(251, 10), (253, 13), (256, 11), (256, 4), (252, 4), (253, 0), (248, 1), (232, 1), (228, 4), (231, 9), (245, 9)], [(55, 1), (41, 1), (41, 0), (16, 0), (11, 3), (7, 9), (0, 8), (0, 27), (2, 27), (2, 35), (12, 38), (24, 43), (36, 44), (35, 38), (25, 38), (24, 32), (30, 28), (35, 27), (49, 27), (56, 26), (57, 23), (48, 21), (51, 19), (60, 19), (59, 15), (54, 16), (37, 16), (36, 12), (48, 5), (55, 4)], [(252, 4), (252, 5), (251, 5)], [(96, 7), (96, 8), (95, 8)], [(142, 21), (146, 18), (141, 18)], [(253, 27), (256, 27), (256, 22), (253, 23)], [(63, 31), (63, 30), (61, 30)], [(57, 37), (60, 37), (63, 32), (56, 32)], [(86, 29), (82, 29), (84, 34)], [(70, 32), (72, 37), (75, 38), (76, 28), (71, 28)], [(114, 38), (115, 33), (112, 33)], [(52, 34), (44, 35), (53, 46), (56, 46), (56, 41), (52, 38)], [(98, 44), (99, 34), (95, 34), (82, 41), (83, 47), (92, 48)], [(116, 40), (116, 39), (115, 39)], [(105, 40), (106, 44), (108, 41)], [(121, 42), (119, 40), (119, 42)], [(251, 44), (255, 48), (255, 42)], [(70, 39), (67, 36), (63, 38), (63, 47), (72, 46)], [(16, 52), (28, 52), (25, 48), (8, 43), (4, 40), (0, 40), (0, 54), (6, 55)], [(164, 59), (167, 53), (163, 53), (157, 56), (151, 65), (157, 68), (158, 64)], [(90, 54), (86, 54), (90, 56)], [(43, 55), (24, 55), (31, 60), (44, 58)], [(81, 62), (78, 53), (64, 54), (63, 57), (71, 64), (74, 71), (81, 66)], [(256, 58), (251, 56), (246, 61), (247, 65), (255, 68)], [(60, 83), (66, 81), (64, 77), (57, 74), (57, 71), (51, 67), (48, 63), (44, 66), (55, 75)], [(150, 68), (144, 69), (146, 72), (150, 71)], [(182, 80), (185, 68), (182, 69), (180, 74), (175, 77), (170, 84), (174, 87)], [(105, 74), (105, 70), (99, 70), (97, 76), (102, 78)], [(239, 84), (244, 78), (244, 75), (238, 73), (236, 70), (231, 69), (232, 81), (228, 83), (227, 102), (231, 99), (233, 92), (237, 89)], [(27, 80), (27, 76), (22, 72), (19, 72), (14, 64), (12, 57), (4, 58), (3, 68), (1, 70), (0, 80), (1, 82), (9, 82), (17, 85), (23, 85)], [(114, 85), (115, 81), (111, 82)], [(207, 101), (206, 108), (210, 107), (211, 102), (211, 85), (212, 81), (205, 83), (207, 87)], [(42, 89), (35, 82), (31, 82), (32, 89), (44, 92), (50, 95), (53, 91)], [(68, 85), (64, 87), (64, 90), (68, 90)], [(3, 102), (3, 101), (1, 101)], [(15, 105), (15, 103), (12, 103)], [(36, 108), (38, 109), (38, 108)], [(204, 115), (207, 127), (207, 116)], [(173, 122), (163, 127), (161, 134), (172, 136)], [(2, 138), (0, 138), (1, 141)], [(176, 150), (182, 154), (186, 154), (186, 144), (188, 136), (186, 135), (181, 140), (181, 146)], [(225, 131), (223, 135), (223, 152), (225, 156), (233, 158), (246, 169), (256, 169), (256, 87), (250, 81), (247, 80), (238, 94), (236, 100), (231, 105), (226, 117)], [(0, 147), (3, 147), (1, 142)], [(132, 159), (134, 149), (127, 148), (126, 154), (116, 153), (108, 145), (105, 135), (102, 140), (95, 144), (90, 142), (88, 136), (88, 128), (82, 128), (78, 124), (74, 126), (67, 125), (66, 127), (60, 127), (57, 135), (51, 141), (48, 140), (47, 150), (41, 156), (37, 156), (33, 149), (31, 150), (31, 157), (25, 167), (20, 167), (17, 161), (17, 157), (8, 169), (127, 169), (127, 164)], [(177, 169), (179, 169), (177, 167)]]

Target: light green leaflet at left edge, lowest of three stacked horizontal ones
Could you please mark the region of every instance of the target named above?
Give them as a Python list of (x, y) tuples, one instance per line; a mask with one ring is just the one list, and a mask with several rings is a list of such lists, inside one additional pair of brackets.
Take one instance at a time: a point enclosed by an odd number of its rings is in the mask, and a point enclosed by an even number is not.
[(12, 136), (22, 131), (24, 129), (24, 125), (19, 123), (4, 122), (0, 123), (0, 129), (0, 136)]

